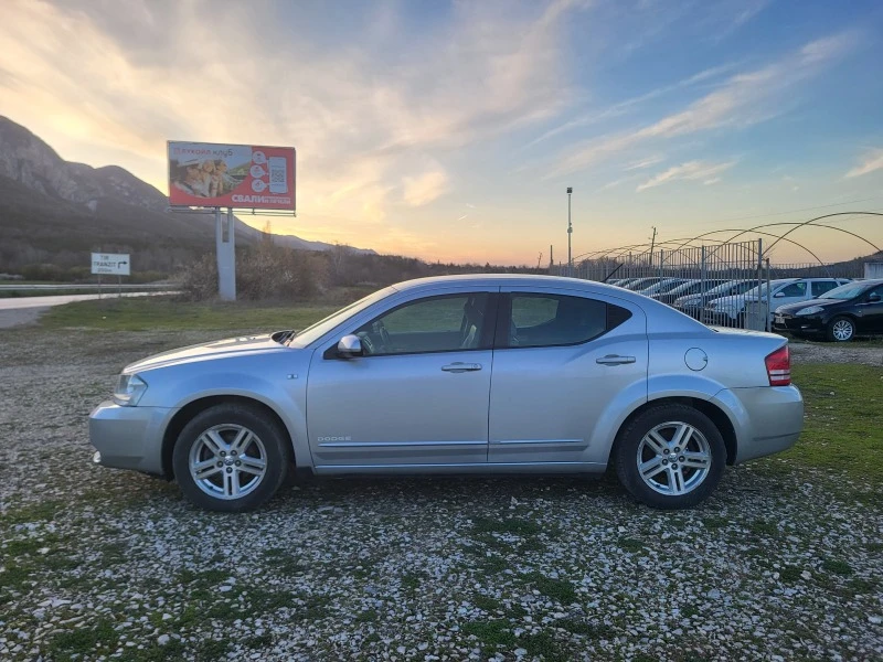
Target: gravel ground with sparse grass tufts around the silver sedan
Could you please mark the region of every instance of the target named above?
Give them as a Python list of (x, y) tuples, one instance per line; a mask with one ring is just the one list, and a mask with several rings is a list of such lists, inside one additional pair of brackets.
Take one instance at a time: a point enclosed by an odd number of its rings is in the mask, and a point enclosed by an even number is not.
[(93, 466), (119, 369), (200, 340), (0, 333), (0, 660), (883, 656), (879, 499), (781, 460), (679, 513), (608, 479), (439, 478), (220, 515)]

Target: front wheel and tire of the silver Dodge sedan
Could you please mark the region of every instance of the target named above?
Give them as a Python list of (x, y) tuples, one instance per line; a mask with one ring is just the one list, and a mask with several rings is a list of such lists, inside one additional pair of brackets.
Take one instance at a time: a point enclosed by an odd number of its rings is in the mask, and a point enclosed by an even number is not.
[[(181, 491), (194, 505), (243, 512), (265, 503), (283, 484), (288, 446), (285, 430), (259, 409), (216, 405), (181, 430), (172, 467)], [(202, 471), (199, 477), (198, 470)]]

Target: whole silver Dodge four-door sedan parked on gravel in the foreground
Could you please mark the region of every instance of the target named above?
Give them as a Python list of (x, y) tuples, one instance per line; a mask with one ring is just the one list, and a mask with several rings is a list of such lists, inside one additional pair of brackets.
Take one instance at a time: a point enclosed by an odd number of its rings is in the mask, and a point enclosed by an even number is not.
[(715, 332), (652, 299), (542, 276), (398, 284), (295, 333), (124, 369), (89, 419), (94, 461), (253, 509), (316, 474), (602, 473), (655, 508), (789, 448), (804, 405), (787, 340)]

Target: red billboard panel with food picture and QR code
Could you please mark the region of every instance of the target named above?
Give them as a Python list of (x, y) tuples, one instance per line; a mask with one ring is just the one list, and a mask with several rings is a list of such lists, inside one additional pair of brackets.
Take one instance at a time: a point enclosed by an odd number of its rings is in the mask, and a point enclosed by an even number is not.
[(169, 141), (169, 204), (295, 211), (295, 148)]

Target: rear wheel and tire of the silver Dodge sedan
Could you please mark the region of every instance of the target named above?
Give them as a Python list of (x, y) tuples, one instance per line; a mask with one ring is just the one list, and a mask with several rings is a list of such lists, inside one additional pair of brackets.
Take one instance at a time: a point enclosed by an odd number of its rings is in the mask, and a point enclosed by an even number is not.
[[(687, 447), (682, 442), (675, 446), (681, 431), (689, 434)], [(637, 501), (650, 508), (681, 510), (701, 503), (717, 487), (726, 447), (721, 431), (702, 412), (661, 404), (620, 430), (614, 462), (619, 482)]]

